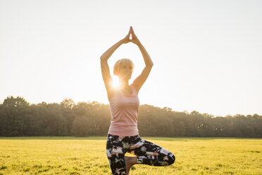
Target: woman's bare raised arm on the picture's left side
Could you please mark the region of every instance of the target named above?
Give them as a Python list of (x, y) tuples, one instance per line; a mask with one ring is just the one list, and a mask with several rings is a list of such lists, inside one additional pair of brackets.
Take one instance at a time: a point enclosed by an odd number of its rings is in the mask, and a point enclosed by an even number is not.
[(100, 57), (101, 72), (102, 72), (102, 77), (103, 77), (103, 80), (104, 80), (104, 84), (106, 86), (106, 91), (107, 91), (108, 97), (110, 96), (110, 91), (111, 91), (113, 80), (112, 80), (112, 77), (110, 75), (110, 70), (109, 70), (109, 66), (108, 66), (107, 61), (110, 58), (110, 56), (113, 54), (113, 52), (115, 52), (116, 49), (118, 49), (118, 47), (120, 47), (120, 45), (130, 42), (130, 39), (129, 39), (130, 35), (131, 35), (131, 28), (130, 28), (127, 36), (123, 40), (120, 40), (119, 42), (114, 44), (112, 47), (110, 47)]

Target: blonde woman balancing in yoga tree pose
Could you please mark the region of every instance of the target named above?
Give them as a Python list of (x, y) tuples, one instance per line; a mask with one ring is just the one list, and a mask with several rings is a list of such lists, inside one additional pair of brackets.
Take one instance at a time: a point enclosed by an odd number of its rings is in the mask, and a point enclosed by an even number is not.
[[(130, 35), (132, 39), (130, 40)], [(113, 74), (119, 78), (119, 87), (113, 87), (108, 67), (108, 59), (121, 44), (136, 44), (146, 64), (141, 75), (129, 85), (134, 64), (130, 59), (120, 59), (113, 67)], [(101, 56), (101, 72), (106, 85), (108, 101), (111, 108), (111, 126), (106, 142), (106, 155), (113, 174), (128, 174), (134, 164), (166, 166), (175, 162), (175, 156), (154, 143), (139, 137), (137, 117), (139, 108), (138, 92), (149, 76), (153, 62), (146, 49), (139, 42), (134, 30), (130, 27), (128, 35), (114, 44)], [(125, 157), (130, 152), (137, 157)]]

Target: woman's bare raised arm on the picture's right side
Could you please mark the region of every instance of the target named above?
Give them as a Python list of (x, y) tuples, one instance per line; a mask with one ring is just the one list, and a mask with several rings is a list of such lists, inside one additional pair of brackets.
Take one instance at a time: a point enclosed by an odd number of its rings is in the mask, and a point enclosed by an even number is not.
[(131, 31), (131, 35), (132, 35), (131, 42), (133, 42), (134, 44), (137, 44), (137, 46), (139, 47), (139, 49), (142, 53), (142, 56), (144, 58), (144, 63), (146, 64), (142, 73), (132, 83), (132, 86), (134, 86), (137, 89), (137, 93), (138, 93), (140, 88), (142, 87), (142, 85), (146, 81), (147, 77), (149, 76), (151, 68), (154, 64), (153, 64), (153, 61), (151, 60), (149, 54), (146, 52), (146, 49), (144, 49), (141, 42), (139, 42), (137, 36), (135, 35), (134, 30), (132, 28), (131, 28), (131, 30), (132, 30)]

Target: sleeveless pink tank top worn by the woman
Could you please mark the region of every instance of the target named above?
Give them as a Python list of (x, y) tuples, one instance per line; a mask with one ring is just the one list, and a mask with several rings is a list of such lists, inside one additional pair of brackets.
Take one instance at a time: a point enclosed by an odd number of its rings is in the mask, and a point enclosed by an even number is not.
[(132, 85), (130, 87), (132, 95), (123, 95), (121, 90), (117, 90), (116, 94), (108, 100), (111, 109), (109, 134), (123, 136), (138, 134), (139, 99), (135, 87), (132, 87)]

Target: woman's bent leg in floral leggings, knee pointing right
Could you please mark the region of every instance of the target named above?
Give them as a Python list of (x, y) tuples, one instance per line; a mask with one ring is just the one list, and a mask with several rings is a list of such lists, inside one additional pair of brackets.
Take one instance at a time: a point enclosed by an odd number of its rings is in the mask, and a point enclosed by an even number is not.
[(128, 152), (137, 155), (137, 164), (167, 166), (175, 162), (175, 155), (170, 151), (141, 138), (131, 145)]

